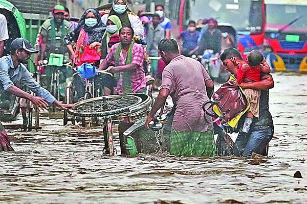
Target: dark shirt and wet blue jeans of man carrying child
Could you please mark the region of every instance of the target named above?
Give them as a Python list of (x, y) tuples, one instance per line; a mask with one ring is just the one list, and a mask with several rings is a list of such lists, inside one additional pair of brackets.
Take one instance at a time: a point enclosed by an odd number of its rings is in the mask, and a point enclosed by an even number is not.
[[(261, 72), (260, 79), (269, 73)], [(265, 147), (274, 134), (272, 115), (269, 111), (269, 90), (260, 91), (259, 118), (253, 118), (250, 131), (240, 132), (233, 147), (235, 156), (250, 157), (252, 152), (266, 156)]]

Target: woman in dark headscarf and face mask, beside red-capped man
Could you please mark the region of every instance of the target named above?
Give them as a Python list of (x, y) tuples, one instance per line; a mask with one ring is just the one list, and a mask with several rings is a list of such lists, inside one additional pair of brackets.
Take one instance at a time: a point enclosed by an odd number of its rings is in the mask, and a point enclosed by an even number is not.
[[(97, 9), (87, 9), (83, 13), (79, 20), (78, 27), (72, 33), (64, 37), (64, 42), (71, 53), (70, 59), (73, 60), (75, 64), (78, 64), (77, 57), (79, 56), (82, 46), (101, 46), (105, 28), (105, 24), (101, 21)], [(77, 42), (75, 51), (71, 45), (72, 41)]]

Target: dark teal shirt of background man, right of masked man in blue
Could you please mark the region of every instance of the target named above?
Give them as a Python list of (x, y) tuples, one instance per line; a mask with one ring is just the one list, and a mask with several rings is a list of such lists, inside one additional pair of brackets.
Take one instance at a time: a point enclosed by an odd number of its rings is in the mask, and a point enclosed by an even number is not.
[(200, 48), (195, 52), (196, 55), (203, 55), (206, 49), (212, 49), (213, 53), (221, 53), (222, 32), (218, 29), (214, 29), (211, 34), (209, 30), (206, 30), (198, 46)]

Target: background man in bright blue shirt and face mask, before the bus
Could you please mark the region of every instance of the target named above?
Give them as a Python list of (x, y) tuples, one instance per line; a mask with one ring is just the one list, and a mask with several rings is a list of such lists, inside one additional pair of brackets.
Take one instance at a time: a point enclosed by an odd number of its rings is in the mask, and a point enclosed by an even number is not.
[(196, 47), (201, 33), (199, 31), (195, 31), (195, 29), (196, 29), (196, 22), (190, 20), (189, 27), (187, 28), (186, 31), (182, 32), (178, 38), (178, 41), (180, 39), (183, 40), (181, 54), (186, 57), (190, 57), (197, 50)]

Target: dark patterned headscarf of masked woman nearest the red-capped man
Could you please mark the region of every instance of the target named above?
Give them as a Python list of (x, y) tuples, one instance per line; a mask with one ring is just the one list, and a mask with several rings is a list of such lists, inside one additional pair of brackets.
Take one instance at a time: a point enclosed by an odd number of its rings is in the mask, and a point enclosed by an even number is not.
[[(94, 26), (88, 26), (85, 24), (85, 18), (88, 13), (94, 13), (95, 17), (97, 18), (97, 23)], [(78, 23), (78, 31), (83, 29), (86, 33), (89, 34), (89, 44), (97, 41), (101, 42), (102, 36), (105, 30), (105, 24), (101, 21), (101, 17), (99, 11), (97, 9), (87, 9), (83, 15), (81, 16), (79, 23)]]

